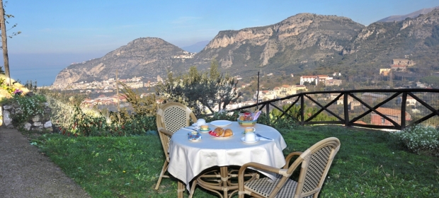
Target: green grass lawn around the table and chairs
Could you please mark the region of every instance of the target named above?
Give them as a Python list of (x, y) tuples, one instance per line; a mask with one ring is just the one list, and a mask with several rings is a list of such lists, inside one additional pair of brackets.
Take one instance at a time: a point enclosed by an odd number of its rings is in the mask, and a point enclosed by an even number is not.
[[(439, 158), (399, 148), (387, 132), (338, 126), (279, 129), (284, 153), (304, 151), (336, 136), (341, 149), (320, 197), (439, 197)], [(68, 137), (43, 134), (33, 144), (92, 197), (176, 197), (175, 179), (156, 179), (164, 162), (156, 134), (128, 137)], [(187, 196), (187, 194), (186, 194)], [(215, 197), (200, 187), (194, 197)]]

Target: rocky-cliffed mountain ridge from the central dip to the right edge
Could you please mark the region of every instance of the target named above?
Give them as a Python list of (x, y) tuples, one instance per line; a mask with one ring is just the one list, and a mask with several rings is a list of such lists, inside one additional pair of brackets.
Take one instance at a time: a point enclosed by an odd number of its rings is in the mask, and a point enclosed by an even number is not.
[[(365, 27), (349, 18), (300, 13), (257, 28), (218, 33), (188, 64), (218, 60), (232, 75), (333, 74), (349, 81), (379, 76), (392, 59), (412, 59), (421, 75), (439, 70), (439, 10), (392, 23)], [(422, 71), (422, 72), (421, 72)]]

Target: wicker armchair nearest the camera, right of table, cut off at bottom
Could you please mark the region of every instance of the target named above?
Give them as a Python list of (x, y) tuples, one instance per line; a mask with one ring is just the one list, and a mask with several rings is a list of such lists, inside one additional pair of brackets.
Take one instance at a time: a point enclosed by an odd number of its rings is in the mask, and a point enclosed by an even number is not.
[[(246, 163), (239, 169), (239, 198), (243, 198), (244, 194), (250, 194), (253, 197), (318, 197), (339, 148), (340, 141), (335, 137), (330, 137), (317, 142), (307, 151), (290, 153), (285, 158), (287, 163), (283, 168), (273, 168), (259, 163)], [(293, 156), (299, 157), (288, 167)], [(302, 168), (296, 182), (291, 180), (290, 176), (300, 164), (302, 164)], [(278, 175), (274, 181), (263, 177), (244, 182), (244, 171), (249, 167)]]

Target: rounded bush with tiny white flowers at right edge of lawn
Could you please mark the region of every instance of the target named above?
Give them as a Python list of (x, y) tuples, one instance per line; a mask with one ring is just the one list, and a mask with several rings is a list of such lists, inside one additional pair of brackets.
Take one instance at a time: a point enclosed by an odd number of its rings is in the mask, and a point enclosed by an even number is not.
[(400, 132), (392, 133), (397, 141), (414, 153), (439, 151), (439, 131), (433, 127), (416, 125)]

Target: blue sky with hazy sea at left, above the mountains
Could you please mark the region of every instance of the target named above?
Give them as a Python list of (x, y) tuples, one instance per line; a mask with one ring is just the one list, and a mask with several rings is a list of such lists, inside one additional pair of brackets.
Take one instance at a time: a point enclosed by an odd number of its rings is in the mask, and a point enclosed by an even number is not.
[(9, 0), (4, 9), (14, 16), (6, 27), (17, 24), (6, 34), (21, 31), (8, 38), (11, 77), (48, 86), (72, 62), (103, 57), (139, 37), (186, 47), (212, 40), (221, 30), (272, 25), (297, 13), (346, 16), (369, 25), (435, 6), (438, 0)]

